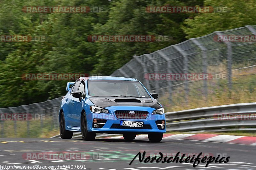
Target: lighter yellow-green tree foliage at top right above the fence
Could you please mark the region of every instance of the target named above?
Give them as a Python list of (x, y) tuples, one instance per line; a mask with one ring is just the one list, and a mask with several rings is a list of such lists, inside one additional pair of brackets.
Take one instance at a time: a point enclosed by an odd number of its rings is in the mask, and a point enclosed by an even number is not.
[(226, 7), (227, 12), (202, 13), (187, 18), (182, 25), (186, 38), (204, 36), (214, 31), (223, 31), (245, 25), (256, 25), (256, 1), (205, 0), (204, 6)]

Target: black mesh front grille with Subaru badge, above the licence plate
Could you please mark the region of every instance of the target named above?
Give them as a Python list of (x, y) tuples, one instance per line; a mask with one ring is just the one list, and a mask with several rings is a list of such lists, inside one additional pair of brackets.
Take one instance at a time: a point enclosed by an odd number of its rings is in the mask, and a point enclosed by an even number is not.
[(115, 115), (118, 119), (146, 119), (148, 111), (134, 110), (135, 114), (130, 114), (131, 110), (116, 110)]

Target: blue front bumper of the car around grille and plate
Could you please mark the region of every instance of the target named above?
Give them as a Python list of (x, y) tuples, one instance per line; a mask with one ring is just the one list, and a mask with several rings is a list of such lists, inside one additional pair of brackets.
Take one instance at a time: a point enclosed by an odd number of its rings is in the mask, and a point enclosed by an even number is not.
[[(145, 134), (150, 132), (160, 132), (164, 133), (166, 132), (164, 129), (159, 129), (156, 125), (157, 120), (164, 120), (165, 122), (165, 116), (162, 115), (152, 115), (152, 112), (156, 109), (151, 107), (138, 107), (138, 106), (111, 106), (107, 107), (105, 109), (108, 109), (109, 113), (93, 113), (90, 112), (90, 114), (87, 115), (87, 122), (88, 122), (88, 131), (95, 131), (97, 133), (112, 133), (112, 134), (122, 134), (122, 133), (128, 133), (133, 132), (136, 134)], [(148, 115), (144, 119), (129, 119), (129, 118), (117, 118), (115, 115), (116, 110), (138, 110), (138, 111), (148, 111)], [(103, 119), (106, 120), (106, 123), (101, 128), (94, 128), (93, 127), (93, 119)], [(120, 126), (120, 121), (136, 121), (136, 122), (143, 122), (143, 127), (123, 127)], [(165, 127), (165, 125), (164, 125)]]

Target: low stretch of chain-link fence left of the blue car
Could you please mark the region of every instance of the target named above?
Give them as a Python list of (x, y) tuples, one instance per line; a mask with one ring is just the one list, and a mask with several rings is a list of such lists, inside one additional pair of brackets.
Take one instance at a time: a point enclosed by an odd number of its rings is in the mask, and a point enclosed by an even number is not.
[(1, 137), (40, 137), (43, 133), (58, 130), (61, 99), (0, 108)]

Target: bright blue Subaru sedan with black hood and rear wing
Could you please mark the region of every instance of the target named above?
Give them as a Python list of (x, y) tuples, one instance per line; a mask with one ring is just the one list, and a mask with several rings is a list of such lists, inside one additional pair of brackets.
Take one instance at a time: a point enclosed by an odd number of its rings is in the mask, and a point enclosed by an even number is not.
[(122, 134), (128, 141), (137, 134), (148, 134), (150, 142), (160, 142), (166, 132), (158, 95), (149, 94), (136, 79), (81, 77), (68, 82), (67, 91), (60, 103), (61, 138), (70, 139), (78, 131), (83, 140), (94, 140), (96, 133), (110, 133)]

